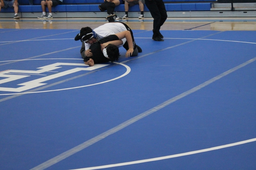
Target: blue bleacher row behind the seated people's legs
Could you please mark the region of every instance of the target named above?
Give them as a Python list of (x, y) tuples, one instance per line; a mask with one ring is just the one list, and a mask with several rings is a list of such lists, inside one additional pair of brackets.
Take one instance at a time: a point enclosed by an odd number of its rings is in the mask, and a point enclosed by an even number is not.
[[(62, 5), (52, 7), (52, 12), (100, 12), (98, 5), (102, 3), (103, 0), (63, 0)], [(174, 2), (182, 0), (164, 0), (164, 2)], [(192, 1), (192, 0), (183, 0)], [(208, 0), (193, 0), (193, 1), (208, 1)], [(34, 0), (34, 5), (28, 5), (28, 0), (18, 0), (19, 2), (19, 12), (42, 12), (41, 0)], [(88, 4), (89, 3), (89, 4)], [(165, 3), (167, 11), (210, 11), (211, 3)], [(116, 12), (124, 12), (124, 4), (120, 4), (115, 8)], [(148, 12), (148, 8), (144, 5), (144, 11)], [(1, 12), (14, 12), (12, 8), (2, 9)], [(46, 12), (48, 8), (46, 8)], [(140, 12), (138, 5), (131, 6), (129, 12)]]

